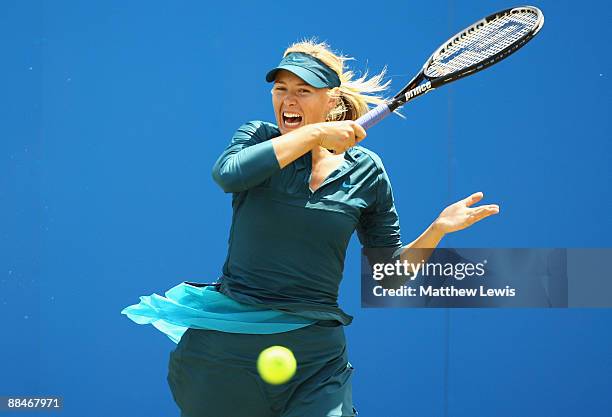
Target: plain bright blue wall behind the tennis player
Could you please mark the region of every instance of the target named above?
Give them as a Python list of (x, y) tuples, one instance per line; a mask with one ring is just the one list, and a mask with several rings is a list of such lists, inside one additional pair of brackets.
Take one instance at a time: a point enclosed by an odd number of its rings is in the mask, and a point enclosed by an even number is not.
[[(273, 120), (263, 76), (284, 48), (316, 35), (359, 71), (387, 65), (394, 90), (451, 34), (515, 4), (375, 5), (0, 4), (0, 395), (60, 395), (65, 416), (178, 415), (175, 345), (119, 312), (219, 275), (230, 196), (210, 169), (240, 124)], [(445, 246), (611, 246), (608, 4), (535, 5), (546, 24), (528, 47), (363, 142), (406, 243), (483, 191), (501, 213)], [(360, 415), (610, 415), (610, 310), (362, 310), (359, 250), (354, 238), (341, 305), (356, 316)]]

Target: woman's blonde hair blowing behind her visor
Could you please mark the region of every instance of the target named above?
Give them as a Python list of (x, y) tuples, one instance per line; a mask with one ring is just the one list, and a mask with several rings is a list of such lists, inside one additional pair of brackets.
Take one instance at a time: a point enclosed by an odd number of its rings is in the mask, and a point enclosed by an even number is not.
[(315, 39), (294, 43), (285, 50), (283, 57), (291, 52), (302, 52), (317, 58), (340, 77), (340, 87), (332, 89), (331, 94), (338, 100), (336, 107), (327, 115), (328, 121), (356, 120), (368, 112), (369, 104), (378, 105), (385, 102), (385, 99), (376, 93), (385, 91), (391, 83), (391, 80), (383, 83), (386, 68), (369, 79), (367, 70), (362, 77), (355, 78), (355, 74), (344, 66), (345, 61), (353, 58), (338, 55), (325, 42), (317, 42)]

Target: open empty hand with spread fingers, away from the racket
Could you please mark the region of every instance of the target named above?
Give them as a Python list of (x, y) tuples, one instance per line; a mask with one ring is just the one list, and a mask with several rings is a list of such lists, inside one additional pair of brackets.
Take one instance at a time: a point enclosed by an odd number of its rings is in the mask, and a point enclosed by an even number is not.
[(499, 213), (497, 204), (471, 207), (482, 200), (483, 197), (482, 192), (477, 192), (446, 207), (434, 222), (434, 228), (440, 233), (456, 232), (479, 222), (485, 217)]

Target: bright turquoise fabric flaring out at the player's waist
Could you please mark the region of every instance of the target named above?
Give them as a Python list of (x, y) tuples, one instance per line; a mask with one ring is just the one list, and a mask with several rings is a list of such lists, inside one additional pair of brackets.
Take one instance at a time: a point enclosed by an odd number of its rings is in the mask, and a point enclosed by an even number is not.
[(234, 301), (212, 284), (182, 282), (165, 297), (151, 294), (121, 314), (137, 324), (152, 324), (178, 343), (189, 328), (228, 333), (272, 334), (309, 326), (317, 320)]

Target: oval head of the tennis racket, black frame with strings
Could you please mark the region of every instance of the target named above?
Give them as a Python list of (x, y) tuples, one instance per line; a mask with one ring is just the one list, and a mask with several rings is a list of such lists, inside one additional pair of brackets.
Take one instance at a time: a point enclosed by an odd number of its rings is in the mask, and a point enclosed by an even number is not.
[(501, 10), (444, 42), (423, 65), (423, 77), (436, 86), (483, 70), (519, 50), (544, 25), (537, 7)]

